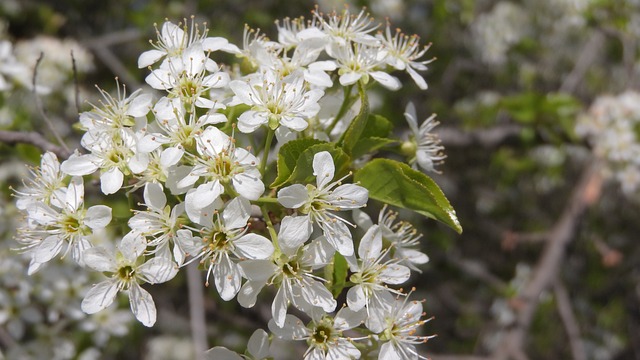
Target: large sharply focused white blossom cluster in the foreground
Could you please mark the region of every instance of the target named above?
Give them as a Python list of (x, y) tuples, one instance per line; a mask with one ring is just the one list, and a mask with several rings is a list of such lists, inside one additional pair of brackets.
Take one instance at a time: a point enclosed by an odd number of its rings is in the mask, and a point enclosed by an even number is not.
[[(105, 275), (84, 296), (84, 312), (102, 311), (124, 292), (135, 317), (152, 326), (157, 310), (144, 284), (170, 281), (197, 262), (205, 285), (225, 301), (252, 307), (261, 292), (273, 292), (268, 327), (281, 339), (305, 340), (306, 359), (360, 358), (362, 346), (380, 359), (423, 358), (415, 347), (429, 339), (416, 333), (425, 322), (421, 302), (396, 288), (428, 261), (420, 235), (386, 207), (378, 224), (362, 211), (354, 216), (372, 194), (350, 181), (360, 158), (402, 141), (386, 138), (390, 131), (367, 133), (367, 88), (400, 88), (390, 74), (400, 70), (426, 89), (418, 71), (430, 61), (421, 59), (428, 47), (389, 24), (376, 33), (364, 11), (315, 11), (277, 25), (278, 41), (246, 27), (237, 46), (193, 22), (162, 24), (154, 49), (138, 60), (157, 93), (101, 90), (102, 101), (80, 114), (84, 153), (62, 162), (44, 154), (16, 191), (29, 273), (70, 253)], [(242, 64), (218, 64), (221, 52)], [(342, 97), (339, 108), (328, 95)], [(345, 116), (351, 108), (355, 118)], [(433, 117), (418, 126), (412, 106), (405, 115), (413, 131), (405, 143), (413, 147), (400, 153), (434, 171), (444, 155), (430, 133)], [(365, 135), (371, 140), (358, 142)], [(428, 179), (407, 171), (413, 183)], [(99, 178), (100, 193), (85, 198), (89, 176)], [(114, 219), (104, 205), (111, 202), (100, 201), (106, 197), (138, 205), (124, 221)], [(373, 197), (380, 199), (377, 190)], [(350, 335), (356, 327), (365, 335)], [(256, 358), (268, 356), (265, 334), (250, 342)], [(215, 354), (235, 356), (220, 347)]]

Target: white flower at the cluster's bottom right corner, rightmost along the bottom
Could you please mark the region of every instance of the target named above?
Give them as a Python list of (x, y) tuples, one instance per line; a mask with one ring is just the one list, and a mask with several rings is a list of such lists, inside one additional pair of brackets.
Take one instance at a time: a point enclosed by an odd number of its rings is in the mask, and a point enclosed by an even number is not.
[[(422, 302), (395, 300), (384, 316), (379, 338), (384, 343), (380, 347), (379, 360), (424, 359), (415, 345), (426, 343), (434, 336), (417, 335), (418, 328), (429, 320), (421, 320)], [(373, 329), (372, 329), (373, 330)], [(376, 330), (373, 330), (376, 331)], [(376, 331), (377, 332), (377, 331)]]

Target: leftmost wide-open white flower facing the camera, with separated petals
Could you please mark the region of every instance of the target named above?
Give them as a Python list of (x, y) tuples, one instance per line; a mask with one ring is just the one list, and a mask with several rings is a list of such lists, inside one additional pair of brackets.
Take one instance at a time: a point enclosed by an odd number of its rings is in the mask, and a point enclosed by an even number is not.
[(67, 188), (63, 207), (58, 211), (44, 203), (35, 203), (27, 209), (29, 218), (44, 226), (44, 240), (33, 248), (29, 272), (58, 255), (64, 244), (65, 254), (71, 251), (73, 259), (82, 264), (82, 252), (91, 247), (88, 236), (111, 222), (111, 208), (94, 205), (84, 208), (84, 184), (74, 177)]

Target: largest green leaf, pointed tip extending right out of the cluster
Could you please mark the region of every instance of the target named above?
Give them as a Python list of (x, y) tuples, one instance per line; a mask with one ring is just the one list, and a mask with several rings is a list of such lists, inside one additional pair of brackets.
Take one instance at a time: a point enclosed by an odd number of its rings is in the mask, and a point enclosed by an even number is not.
[(374, 159), (356, 172), (354, 180), (369, 190), (370, 199), (414, 210), (462, 233), (456, 212), (440, 187), (407, 164)]

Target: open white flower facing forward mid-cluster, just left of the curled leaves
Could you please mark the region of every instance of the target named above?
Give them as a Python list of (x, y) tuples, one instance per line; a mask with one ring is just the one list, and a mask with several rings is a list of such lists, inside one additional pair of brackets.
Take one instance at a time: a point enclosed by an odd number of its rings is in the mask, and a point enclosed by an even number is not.
[[(200, 177), (205, 183), (199, 185), (187, 198), (187, 214), (193, 221), (197, 212), (211, 205), (222, 193), (225, 186), (248, 200), (257, 200), (264, 193), (262, 175), (257, 168), (258, 159), (243, 148), (236, 148), (234, 140), (218, 128), (210, 126), (196, 137), (198, 154), (195, 166), (180, 186), (193, 185)], [(192, 201), (191, 201), (192, 200)]]

